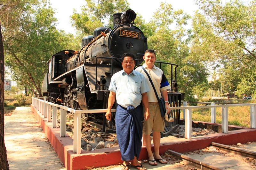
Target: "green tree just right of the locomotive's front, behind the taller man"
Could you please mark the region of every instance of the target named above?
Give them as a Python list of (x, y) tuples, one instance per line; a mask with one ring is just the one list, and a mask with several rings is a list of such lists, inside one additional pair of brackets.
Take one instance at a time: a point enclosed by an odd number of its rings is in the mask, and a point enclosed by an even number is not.
[[(172, 5), (161, 3), (150, 20), (151, 32), (148, 37), (148, 48), (155, 49), (157, 61), (179, 65), (177, 68), (177, 83), (179, 92), (185, 92), (185, 100), (194, 100), (194, 95), (203, 96), (208, 88), (207, 69), (202, 61), (190, 56), (189, 42), (191, 31), (186, 29), (190, 15), (182, 10), (173, 10)], [(169, 82), (170, 67), (162, 68)]]

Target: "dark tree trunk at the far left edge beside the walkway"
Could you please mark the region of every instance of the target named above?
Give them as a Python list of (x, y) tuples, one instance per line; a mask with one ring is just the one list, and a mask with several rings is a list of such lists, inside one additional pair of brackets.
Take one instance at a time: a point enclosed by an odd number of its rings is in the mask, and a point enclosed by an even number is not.
[(4, 45), (0, 22), (0, 169), (9, 170), (7, 153), (4, 144)]

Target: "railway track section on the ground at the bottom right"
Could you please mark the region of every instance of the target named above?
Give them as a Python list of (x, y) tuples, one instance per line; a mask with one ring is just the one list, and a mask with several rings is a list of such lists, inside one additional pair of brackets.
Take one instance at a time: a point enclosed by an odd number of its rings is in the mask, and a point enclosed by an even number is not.
[(256, 169), (256, 143), (234, 147), (212, 142), (204, 150), (184, 154), (167, 150), (166, 153), (202, 170)]

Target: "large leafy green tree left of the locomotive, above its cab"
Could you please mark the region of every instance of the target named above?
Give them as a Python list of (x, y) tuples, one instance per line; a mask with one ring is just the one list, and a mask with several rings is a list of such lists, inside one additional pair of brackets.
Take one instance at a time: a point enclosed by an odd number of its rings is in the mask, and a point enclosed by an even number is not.
[[(7, 3), (7, 0), (4, 0)], [(56, 52), (73, 42), (55, 28), (54, 11), (46, 0), (8, 1), (8, 8), (1, 8), (1, 22), (5, 49), (5, 64), (16, 81), (42, 97), (41, 82), (47, 72), (46, 62)]]

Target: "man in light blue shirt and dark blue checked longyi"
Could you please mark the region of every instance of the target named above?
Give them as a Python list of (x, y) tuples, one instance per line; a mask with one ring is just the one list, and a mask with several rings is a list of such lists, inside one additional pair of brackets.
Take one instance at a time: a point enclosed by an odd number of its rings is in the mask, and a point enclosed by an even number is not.
[[(121, 70), (111, 78), (108, 97), (108, 111), (106, 118), (111, 120), (111, 108), (115, 103), (116, 108), (116, 135), (121, 158), (124, 161), (121, 169), (128, 169), (129, 162), (138, 170), (146, 170), (138, 158), (142, 146), (143, 116), (149, 119), (148, 109), (148, 84), (143, 74), (134, 71), (135, 57), (132, 53), (122, 55)], [(142, 103), (145, 106), (143, 114)]]

